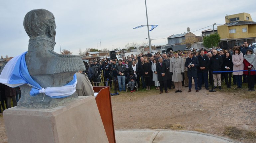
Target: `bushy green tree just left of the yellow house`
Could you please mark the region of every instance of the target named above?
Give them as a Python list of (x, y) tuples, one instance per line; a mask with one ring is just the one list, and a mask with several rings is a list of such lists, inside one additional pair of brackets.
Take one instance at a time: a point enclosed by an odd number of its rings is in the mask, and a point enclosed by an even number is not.
[(203, 46), (206, 48), (217, 47), (220, 42), (220, 36), (217, 33), (203, 37)]

